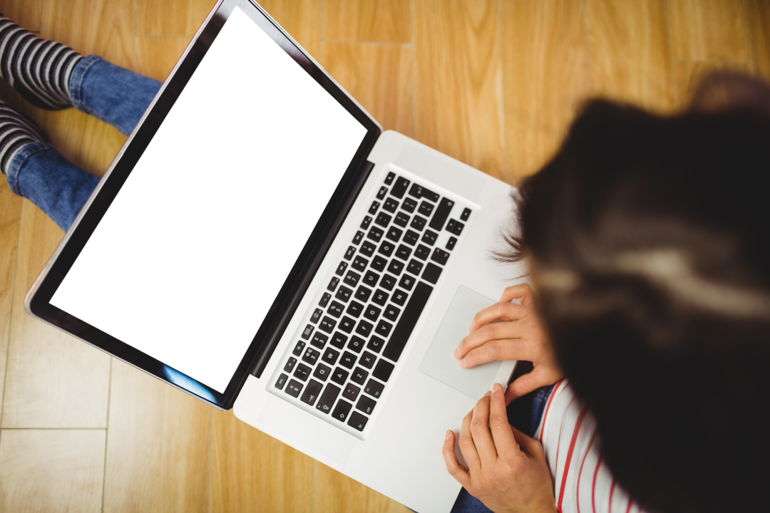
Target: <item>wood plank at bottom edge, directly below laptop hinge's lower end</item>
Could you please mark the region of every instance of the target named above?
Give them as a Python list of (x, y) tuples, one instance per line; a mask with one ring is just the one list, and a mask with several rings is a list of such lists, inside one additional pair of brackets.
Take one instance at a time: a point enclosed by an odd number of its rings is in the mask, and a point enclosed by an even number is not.
[(313, 511), (313, 458), (214, 411), (211, 511)]

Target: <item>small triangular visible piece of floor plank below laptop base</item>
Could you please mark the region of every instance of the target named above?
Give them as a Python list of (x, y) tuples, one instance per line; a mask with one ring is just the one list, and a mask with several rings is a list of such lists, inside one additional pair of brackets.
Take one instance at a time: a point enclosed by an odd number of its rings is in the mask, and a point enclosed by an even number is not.
[(407, 513), (409, 508), (316, 462), (316, 513)]

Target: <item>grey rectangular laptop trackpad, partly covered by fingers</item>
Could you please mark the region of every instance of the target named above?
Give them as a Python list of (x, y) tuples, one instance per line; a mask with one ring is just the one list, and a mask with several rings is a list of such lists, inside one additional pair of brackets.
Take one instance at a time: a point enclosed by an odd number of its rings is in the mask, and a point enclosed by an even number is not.
[(441, 321), (423, 358), (420, 371), (470, 395), (471, 398), (480, 399), (490, 389), (503, 362), (490, 361), (474, 368), (461, 368), (460, 361), (454, 358), (452, 353), (460, 345), (460, 341), (467, 337), (474, 316), (496, 302), (470, 288), (457, 288), (452, 304), (444, 315), (444, 321)]

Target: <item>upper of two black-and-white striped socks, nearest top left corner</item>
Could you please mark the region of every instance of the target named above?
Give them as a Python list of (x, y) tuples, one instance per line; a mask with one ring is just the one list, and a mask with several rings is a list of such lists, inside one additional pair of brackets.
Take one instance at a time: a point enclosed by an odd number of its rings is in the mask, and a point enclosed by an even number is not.
[(52, 111), (71, 107), (69, 77), (82, 58), (0, 14), (0, 77), (32, 105)]

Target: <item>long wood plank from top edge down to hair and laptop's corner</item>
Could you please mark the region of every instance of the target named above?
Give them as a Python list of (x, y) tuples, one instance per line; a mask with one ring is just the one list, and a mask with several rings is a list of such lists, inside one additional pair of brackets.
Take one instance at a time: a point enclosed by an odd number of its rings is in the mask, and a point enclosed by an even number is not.
[(503, 2), (506, 181), (537, 172), (588, 95), (583, 10), (569, 0)]

